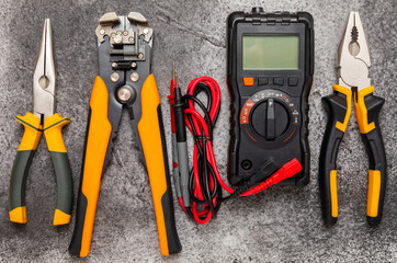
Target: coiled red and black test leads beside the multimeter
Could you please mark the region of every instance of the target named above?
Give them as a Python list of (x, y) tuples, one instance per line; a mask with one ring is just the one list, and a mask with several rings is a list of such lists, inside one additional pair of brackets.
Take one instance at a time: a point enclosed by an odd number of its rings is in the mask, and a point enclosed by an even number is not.
[[(302, 171), (297, 159), (285, 163), (280, 170), (279, 165), (269, 159), (239, 187), (229, 187), (219, 174), (213, 150), (213, 130), (220, 108), (218, 83), (209, 77), (196, 78), (190, 82), (186, 94), (182, 96), (175, 76), (173, 81), (171, 87), (174, 83), (174, 89), (169, 99), (173, 107), (174, 134), (177, 135), (174, 162), (179, 164), (179, 174), (174, 174), (175, 192), (183, 210), (197, 224), (207, 224), (215, 217), (223, 202), (237, 196), (257, 194)], [(206, 95), (206, 101), (198, 99), (201, 93)], [(188, 165), (186, 127), (194, 139), (191, 170)], [(186, 164), (183, 169), (182, 163)], [(186, 173), (188, 185), (182, 183), (182, 179), (185, 181)], [(224, 197), (223, 190), (229, 195)]]

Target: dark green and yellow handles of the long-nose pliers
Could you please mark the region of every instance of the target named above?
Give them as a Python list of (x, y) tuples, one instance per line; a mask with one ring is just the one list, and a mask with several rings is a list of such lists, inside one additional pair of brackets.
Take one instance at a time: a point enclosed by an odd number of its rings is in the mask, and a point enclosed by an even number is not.
[(25, 203), (27, 171), (44, 132), (55, 168), (58, 190), (54, 225), (68, 224), (72, 205), (72, 181), (69, 159), (61, 136), (61, 127), (70, 123), (70, 121), (63, 118), (57, 113), (47, 117), (44, 121), (44, 126), (41, 124), (39, 118), (32, 113), (18, 116), (16, 121), (25, 127), (25, 132), (11, 170), (9, 185), (10, 220), (19, 224), (27, 222)]

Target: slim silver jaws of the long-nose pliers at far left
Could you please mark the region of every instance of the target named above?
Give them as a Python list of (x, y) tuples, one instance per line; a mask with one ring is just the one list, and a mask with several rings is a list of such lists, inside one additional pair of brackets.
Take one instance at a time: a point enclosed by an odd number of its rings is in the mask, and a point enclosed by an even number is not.
[(52, 26), (45, 19), (33, 73), (33, 113), (42, 121), (55, 112), (55, 79)]

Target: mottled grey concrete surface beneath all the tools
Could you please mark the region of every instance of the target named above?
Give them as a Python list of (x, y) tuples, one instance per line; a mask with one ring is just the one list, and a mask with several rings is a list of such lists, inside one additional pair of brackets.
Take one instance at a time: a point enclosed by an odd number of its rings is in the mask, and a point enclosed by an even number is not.
[[(305, 10), (315, 19), (316, 68), (309, 98), (310, 184), (304, 188), (273, 187), (254, 197), (226, 203), (218, 218), (207, 226), (197, 226), (177, 207), (183, 251), (162, 258), (148, 178), (138, 163), (132, 128), (124, 113), (115, 142), (115, 158), (101, 186), (91, 254), (84, 261), (397, 261), (396, 3), (395, 0), (0, 0), (0, 261), (83, 262), (67, 251), (73, 224), (60, 229), (52, 226), (56, 185), (44, 140), (27, 180), (29, 222), (25, 227), (15, 227), (8, 219), (9, 173), (23, 134), (14, 116), (32, 111), (33, 67), (43, 20), (50, 18), (53, 22), (58, 72), (57, 111), (71, 118), (71, 124), (64, 129), (64, 137), (77, 194), (89, 99), (98, 72), (94, 31), (99, 18), (109, 11), (118, 14), (138, 11), (154, 27), (152, 71), (162, 99), (168, 142), (170, 121), (166, 96), (172, 61), (178, 65), (182, 85), (203, 75), (218, 81), (223, 104), (214, 147), (219, 170), (226, 175), (229, 95), (225, 81), (225, 21), (228, 13), (250, 11), (252, 5), (262, 5), (266, 11)], [(375, 94), (386, 99), (381, 126), (389, 181), (384, 220), (376, 229), (370, 229), (365, 221), (367, 159), (354, 115), (338, 158), (340, 220), (333, 228), (326, 228), (320, 217), (317, 171), (326, 125), (320, 98), (329, 94), (336, 83), (337, 46), (350, 11), (361, 14), (372, 52), (371, 77)], [(170, 155), (170, 144), (168, 147)]]

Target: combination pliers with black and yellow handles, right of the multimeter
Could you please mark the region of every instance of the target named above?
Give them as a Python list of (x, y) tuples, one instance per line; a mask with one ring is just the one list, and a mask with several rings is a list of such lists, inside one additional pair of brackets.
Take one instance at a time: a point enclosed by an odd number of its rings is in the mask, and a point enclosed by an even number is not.
[(322, 98), (329, 117), (320, 151), (319, 183), (322, 217), (328, 226), (334, 225), (338, 219), (336, 159), (352, 111), (352, 96), (370, 161), (367, 222), (377, 226), (382, 220), (387, 164), (378, 115), (385, 100), (373, 94), (370, 67), (370, 49), (360, 15), (351, 12), (339, 45), (339, 84), (332, 87), (333, 94)]

